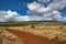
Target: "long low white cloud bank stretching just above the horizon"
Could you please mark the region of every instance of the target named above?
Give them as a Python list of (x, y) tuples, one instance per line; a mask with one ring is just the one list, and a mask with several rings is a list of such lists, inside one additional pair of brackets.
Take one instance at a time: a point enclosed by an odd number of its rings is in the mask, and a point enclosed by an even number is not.
[[(53, 18), (54, 20), (59, 20), (61, 13), (58, 11), (53, 11)], [(11, 21), (43, 21), (43, 20), (47, 20), (47, 21), (52, 21), (53, 18), (51, 13), (48, 14), (44, 14), (42, 16), (38, 15), (20, 15), (19, 13), (16, 13), (15, 11), (0, 11), (0, 22), (11, 22)], [(58, 14), (58, 15), (57, 15)], [(63, 19), (66, 20), (66, 19)]]

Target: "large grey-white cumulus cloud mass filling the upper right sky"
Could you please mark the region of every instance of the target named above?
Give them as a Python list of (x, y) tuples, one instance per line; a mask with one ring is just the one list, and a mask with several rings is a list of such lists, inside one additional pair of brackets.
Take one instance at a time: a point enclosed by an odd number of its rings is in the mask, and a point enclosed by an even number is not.
[(43, 20), (55, 20), (59, 21), (63, 16), (59, 10), (66, 7), (66, 0), (53, 0), (47, 7), (40, 2), (50, 2), (51, 0), (37, 0), (28, 4), (29, 12), (34, 13), (38, 16), (42, 15)]

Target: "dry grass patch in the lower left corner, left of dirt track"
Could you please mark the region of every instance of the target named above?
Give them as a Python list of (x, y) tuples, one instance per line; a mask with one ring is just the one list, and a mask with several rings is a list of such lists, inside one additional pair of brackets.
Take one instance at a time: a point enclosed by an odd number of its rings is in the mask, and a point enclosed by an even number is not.
[(23, 44), (22, 40), (0, 28), (0, 44)]

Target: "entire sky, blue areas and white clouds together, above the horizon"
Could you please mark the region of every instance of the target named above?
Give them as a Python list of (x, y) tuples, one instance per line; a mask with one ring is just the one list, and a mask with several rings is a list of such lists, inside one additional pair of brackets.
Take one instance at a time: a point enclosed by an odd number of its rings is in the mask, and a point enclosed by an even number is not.
[(0, 0), (0, 22), (64, 21), (66, 0)]

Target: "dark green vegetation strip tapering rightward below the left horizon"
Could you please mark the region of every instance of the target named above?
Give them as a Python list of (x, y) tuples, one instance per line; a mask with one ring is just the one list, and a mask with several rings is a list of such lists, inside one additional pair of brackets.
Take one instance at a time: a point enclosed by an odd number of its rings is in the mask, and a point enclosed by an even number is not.
[(0, 26), (23, 26), (23, 25), (31, 25), (37, 24), (40, 22), (3, 22), (0, 23)]

